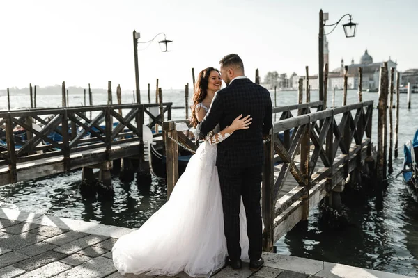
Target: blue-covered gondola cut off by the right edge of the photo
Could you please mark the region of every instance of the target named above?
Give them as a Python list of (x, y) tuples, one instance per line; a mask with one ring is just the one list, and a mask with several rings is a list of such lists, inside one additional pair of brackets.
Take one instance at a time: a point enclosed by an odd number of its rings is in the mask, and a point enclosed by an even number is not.
[(415, 202), (418, 202), (418, 130), (415, 132), (414, 140), (403, 145), (403, 181), (407, 183), (407, 188)]

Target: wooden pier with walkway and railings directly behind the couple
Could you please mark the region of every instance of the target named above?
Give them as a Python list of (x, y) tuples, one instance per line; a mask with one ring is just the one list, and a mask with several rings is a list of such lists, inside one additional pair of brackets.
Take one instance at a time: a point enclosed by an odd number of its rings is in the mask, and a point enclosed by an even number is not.
[[(313, 107), (317, 111), (311, 113)], [(261, 185), (265, 251), (272, 252), (281, 236), (307, 220), (309, 208), (320, 200), (328, 197), (335, 204), (350, 174), (361, 183), (359, 172), (366, 161), (373, 161), (373, 101), (322, 108), (323, 101), (273, 108), (281, 116), (265, 140)], [(176, 130), (174, 121), (163, 123), (163, 133), (171, 193), (178, 180), (178, 142), (190, 149), (196, 146)]]

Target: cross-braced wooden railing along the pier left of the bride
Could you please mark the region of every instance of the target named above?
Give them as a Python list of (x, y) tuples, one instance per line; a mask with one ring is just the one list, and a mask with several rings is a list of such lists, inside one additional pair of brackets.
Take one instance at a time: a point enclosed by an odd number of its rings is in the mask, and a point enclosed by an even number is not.
[[(151, 119), (148, 127), (162, 124), (161, 113), (154, 116), (149, 111), (154, 106), (158, 107), (159, 104), (0, 111), (0, 126), (5, 127), (0, 138), (5, 138), (7, 142), (7, 151), (0, 152), (0, 166), (8, 165), (10, 183), (14, 183), (17, 163), (63, 156), (65, 169), (69, 169), (70, 154), (98, 148), (106, 149), (104, 160), (110, 161), (112, 146), (134, 141), (142, 143), (145, 114)], [(172, 103), (164, 103), (162, 108), (162, 113), (167, 112), (168, 119), (171, 119), (171, 106)], [(124, 116), (119, 111), (123, 111)], [(87, 117), (87, 112), (94, 116)], [(38, 122), (40, 130), (33, 128), (33, 121)], [(114, 122), (118, 124), (114, 126)], [(16, 126), (24, 129), (26, 140), (15, 139), (13, 129)], [(52, 133), (56, 133), (62, 140), (50, 138)], [(88, 134), (89, 138), (86, 137)]]

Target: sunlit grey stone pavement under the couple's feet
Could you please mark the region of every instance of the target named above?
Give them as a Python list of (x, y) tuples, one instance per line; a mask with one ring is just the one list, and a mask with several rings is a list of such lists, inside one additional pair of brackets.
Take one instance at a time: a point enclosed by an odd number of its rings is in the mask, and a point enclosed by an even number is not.
[[(111, 260), (117, 238), (132, 229), (0, 208), (0, 277), (149, 277), (120, 275)], [(224, 278), (401, 278), (376, 270), (264, 253), (265, 265), (251, 272), (248, 264), (225, 267), (212, 277)], [(180, 273), (178, 278), (187, 278)]]

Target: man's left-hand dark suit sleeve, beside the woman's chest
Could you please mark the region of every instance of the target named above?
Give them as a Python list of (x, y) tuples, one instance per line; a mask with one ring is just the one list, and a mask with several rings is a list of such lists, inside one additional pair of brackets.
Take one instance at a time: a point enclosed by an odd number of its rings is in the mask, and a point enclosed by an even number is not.
[(222, 101), (222, 95), (217, 92), (212, 99), (209, 111), (201, 122), (196, 126), (196, 135), (199, 138), (204, 139), (209, 131), (215, 129), (215, 126), (224, 117), (224, 101)]

